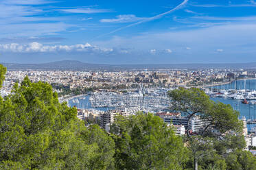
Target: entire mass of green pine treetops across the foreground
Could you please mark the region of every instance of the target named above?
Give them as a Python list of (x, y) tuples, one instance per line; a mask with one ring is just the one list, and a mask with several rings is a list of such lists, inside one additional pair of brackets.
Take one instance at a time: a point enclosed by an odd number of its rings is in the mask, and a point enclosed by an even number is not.
[[(0, 85), (5, 72), (0, 64)], [(193, 169), (195, 162), (198, 169), (256, 169), (243, 136), (234, 135), (241, 123), (231, 106), (196, 88), (170, 97), (175, 110), (197, 114), (218, 135), (207, 127), (198, 136), (176, 136), (160, 117), (143, 112), (116, 117), (106, 133), (60, 104), (49, 84), (25, 77), (0, 97), (0, 169)]]

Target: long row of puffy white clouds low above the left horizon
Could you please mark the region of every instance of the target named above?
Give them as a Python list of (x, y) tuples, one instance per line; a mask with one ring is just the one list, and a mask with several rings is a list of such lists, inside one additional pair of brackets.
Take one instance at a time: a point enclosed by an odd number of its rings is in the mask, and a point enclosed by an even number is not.
[(113, 49), (100, 48), (97, 46), (86, 44), (77, 44), (77, 45), (43, 45), (38, 42), (32, 42), (30, 44), (21, 45), (18, 43), (11, 44), (0, 44), (1, 52), (11, 52), (11, 53), (32, 53), (32, 52), (93, 52), (93, 53), (110, 53)]

